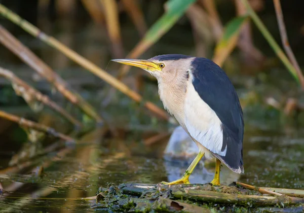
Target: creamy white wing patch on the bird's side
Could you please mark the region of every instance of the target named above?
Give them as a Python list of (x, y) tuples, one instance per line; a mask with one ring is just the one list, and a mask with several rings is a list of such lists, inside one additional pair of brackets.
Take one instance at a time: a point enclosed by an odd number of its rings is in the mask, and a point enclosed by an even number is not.
[(189, 79), (184, 104), (184, 123), (189, 134), (209, 151), (225, 156), (227, 147), (221, 151), (223, 144), (221, 121), (201, 99), (192, 84), (192, 79)]

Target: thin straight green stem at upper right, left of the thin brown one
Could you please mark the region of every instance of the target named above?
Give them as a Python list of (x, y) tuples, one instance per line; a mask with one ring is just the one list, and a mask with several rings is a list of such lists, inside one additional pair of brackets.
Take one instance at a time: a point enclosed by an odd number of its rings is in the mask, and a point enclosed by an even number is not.
[(295, 68), (290, 63), (290, 61), (288, 60), (287, 56), (284, 54), (284, 52), (282, 51), (282, 49), (280, 48), (280, 46), (274, 40), (274, 38), (272, 37), (272, 35), (268, 31), (268, 29), (265, 27), (265, 25), (262, 23), (262, 21), (256, 15), (256, 13), (254, 12), (254, 10), (251, 8), (248, 0), (240, 0), (240, 1), (242, 1), (242, 3), (244, 4), (244, 6), (246, 7), (249, 16), (251, 17), (251, 19), (253, 20), (253, 22), (257, 26), (257, 28), (260, 30), (260, 32), (263, 34), (264, 38), (268, 41), (268, 43), (271, 46), (271, 48), (275, 51), (275, 53), (277, 54), (277, 56), (281, 59), (281, 61), (283, 62), (283, 64), (286, 66), (286, 68), (289, 70), (289, 72), (291, 73), (291, 75), (294, 77), (294, 79), (299, 83), (299, 79), (298, 79), (298, 76), (297, 76)]

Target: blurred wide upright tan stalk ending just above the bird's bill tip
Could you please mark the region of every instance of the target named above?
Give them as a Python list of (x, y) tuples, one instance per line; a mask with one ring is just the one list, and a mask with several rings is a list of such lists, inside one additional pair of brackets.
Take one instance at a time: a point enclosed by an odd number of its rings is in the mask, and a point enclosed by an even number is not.
[(124, 49), (121, 38), (121, 29), (119, 22), (119, 10), (116, 0), (99, 0), (104, 8), (104, 16), (107, 31), (112, 43), (112, 51), (115, 57), (123, 58)]

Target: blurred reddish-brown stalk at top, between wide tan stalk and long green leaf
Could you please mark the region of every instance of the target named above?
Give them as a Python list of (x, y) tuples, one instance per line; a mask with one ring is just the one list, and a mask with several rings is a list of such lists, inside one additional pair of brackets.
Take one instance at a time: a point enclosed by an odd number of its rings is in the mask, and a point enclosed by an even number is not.
[(131, 17), (137, 31), (143, 37), (143, 35), (147, 31), (147, 25), (144, 21), (143, 13), (141, 9), (138, 6), (137, 1), (134, 0), (122, 0), (122, 3), (124, 4), (124, 7)]

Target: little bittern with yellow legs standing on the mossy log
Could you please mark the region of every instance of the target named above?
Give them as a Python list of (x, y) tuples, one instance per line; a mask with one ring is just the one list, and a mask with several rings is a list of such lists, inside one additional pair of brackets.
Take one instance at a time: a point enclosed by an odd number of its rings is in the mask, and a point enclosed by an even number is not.
[(140, 67), (156, 77), (165, 109), (198, 146), (199, 154), (181, 179), (163, 183), (189, 184), (189, 175), (204, 155), (216, 158), (213, 185), (220, 185), (221, 162), (244, 173), (243, 112), (234, 86), (217, 64), (179, 54), (113, 61)]

